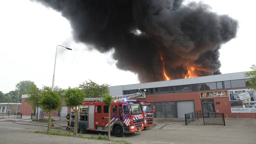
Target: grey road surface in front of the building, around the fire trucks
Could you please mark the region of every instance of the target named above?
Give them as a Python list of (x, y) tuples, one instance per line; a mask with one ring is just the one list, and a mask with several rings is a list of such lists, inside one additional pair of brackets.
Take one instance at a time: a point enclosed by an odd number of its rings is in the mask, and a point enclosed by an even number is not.
[[(31, 124), (19, 122), (21, 124)], [(65, 121), (56, 121), (65, 125)], [(155, 126), (142, 132), (125, 134), (125, 140), (139, 144), (256, 144), (256, 119), (226, 120), (226, 126), (185, 126), (182, 120), (156, 120)], [(46, 127), (0, 122), (0, 133), (4, 127), (23, 130), (45, 130)], [(63, 130), (65, 131), (65, 130)], [(100, 132), (85, 135), (97, 136)], [(106, 134), (101, 132), (101, 134)], [(1, 136), (2, 134), (0, 134)], [(0, 137), (1, 139), (1, 137)], [(122, 140), (111, 136), (111, 139)], [(0, 142), (1, 143), (1, 142)]]

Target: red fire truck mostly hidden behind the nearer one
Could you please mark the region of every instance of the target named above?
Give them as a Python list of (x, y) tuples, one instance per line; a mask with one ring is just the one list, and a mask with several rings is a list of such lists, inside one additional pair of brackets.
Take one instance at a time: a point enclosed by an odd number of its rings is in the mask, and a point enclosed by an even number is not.
[(144, 118), (144, 121), (143, 121), (144, 128), (153, 126), (154, 125), (153, 112), (155, 112), (155, 106), (150, 106), (150, 103), (148, 102), (139, 102), (139, 104), (140, 104), (140, 108), (142, 110), (142, 114)]

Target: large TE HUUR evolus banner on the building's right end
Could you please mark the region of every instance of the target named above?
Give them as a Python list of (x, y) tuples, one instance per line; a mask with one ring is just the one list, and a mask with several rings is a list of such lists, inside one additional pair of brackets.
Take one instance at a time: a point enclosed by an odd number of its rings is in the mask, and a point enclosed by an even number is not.
[(228, 94), (232, 113), (256, 113), (255, 90), (229, 90)]

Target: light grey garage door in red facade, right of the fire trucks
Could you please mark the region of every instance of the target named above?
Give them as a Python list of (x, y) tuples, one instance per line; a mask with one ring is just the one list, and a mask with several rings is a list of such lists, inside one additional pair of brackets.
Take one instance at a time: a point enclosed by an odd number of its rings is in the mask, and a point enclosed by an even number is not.
[(177, 102), (178, 118), (185, 118), (186, 113), (194, 112), (194, 101), (178, 101)]

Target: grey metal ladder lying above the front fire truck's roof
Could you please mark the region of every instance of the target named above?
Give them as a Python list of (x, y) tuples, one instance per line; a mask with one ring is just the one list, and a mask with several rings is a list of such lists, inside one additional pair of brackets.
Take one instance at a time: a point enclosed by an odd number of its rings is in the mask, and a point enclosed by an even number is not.
[[(124, 99), (133, 98), (133, 97), (145, 98), (146, 93), (145, 92), (137, 92), (137, 93), (133, 93), (133, 94), (113, 96), (112, 98), (113, 98), (113, 100), (124, 100)], [(84, 100), (85, 101), (102, 101), (102, 97), (100, 97), (100, 98), (85, 98)]]

